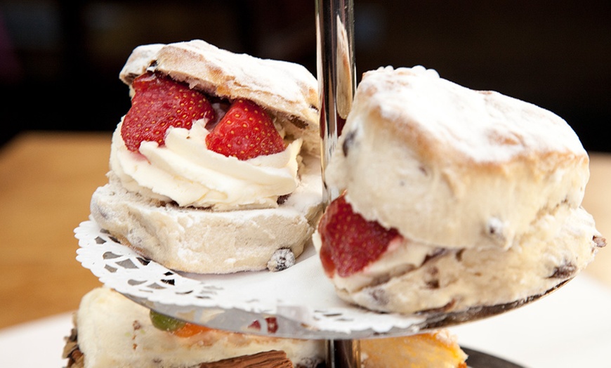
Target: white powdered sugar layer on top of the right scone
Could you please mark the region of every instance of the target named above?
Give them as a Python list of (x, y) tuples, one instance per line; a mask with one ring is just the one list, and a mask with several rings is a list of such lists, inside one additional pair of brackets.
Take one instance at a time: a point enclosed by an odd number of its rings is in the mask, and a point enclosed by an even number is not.
[(558, 115), (494, 91), (475, 91), (425, 68), (380, 68), (364, 74), (363, 87), (383, 118), (441, 140), (475, 162), (506, 161), (530, 152), (585, 153)]

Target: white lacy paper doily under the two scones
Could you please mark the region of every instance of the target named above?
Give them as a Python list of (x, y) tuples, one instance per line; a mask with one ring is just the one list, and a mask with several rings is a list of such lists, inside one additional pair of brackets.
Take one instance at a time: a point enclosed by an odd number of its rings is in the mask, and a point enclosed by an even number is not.
[[(244, 331), (255, 320), (275, 336), (356, 339), (413, 334), (425, 318), (374, 313), (342, 301), (326, 279), (315, 249), (280, 272), (194, 275), (169, 270), (119, 244), (95, 221), (74, 230), (77, 261), (107, 287), (161, 313), (213, 328)], [(249, 332), (251, 331), (248, 329)]]

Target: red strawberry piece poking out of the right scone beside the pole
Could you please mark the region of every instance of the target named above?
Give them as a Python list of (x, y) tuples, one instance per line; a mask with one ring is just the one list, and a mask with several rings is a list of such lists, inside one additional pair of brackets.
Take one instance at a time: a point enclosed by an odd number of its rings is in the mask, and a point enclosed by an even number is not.
[(324, 212), (318, 232), (322, 240), (320, 259), (327, 275), (337, 272), (348, 277), (376, 261), (395, 237), (396, 229), (386, 229), (367, 221), (341, 195)]

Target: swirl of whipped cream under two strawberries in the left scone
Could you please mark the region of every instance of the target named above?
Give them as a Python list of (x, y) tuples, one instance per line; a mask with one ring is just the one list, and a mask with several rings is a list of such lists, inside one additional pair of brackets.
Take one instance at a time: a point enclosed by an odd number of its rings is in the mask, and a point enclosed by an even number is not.
[(110, 170), (132, 192), (176, 202), (179, 206), (231, 209), (275, 208), (277, 199), (299, 183), (302, 140), (286, 150), (241, 161), (208, 150), (204, 119), (190, 130), (168, 129), (165, 145), (143, 142), (131, 152), (121, 138), (121, 125), (112, 136)]

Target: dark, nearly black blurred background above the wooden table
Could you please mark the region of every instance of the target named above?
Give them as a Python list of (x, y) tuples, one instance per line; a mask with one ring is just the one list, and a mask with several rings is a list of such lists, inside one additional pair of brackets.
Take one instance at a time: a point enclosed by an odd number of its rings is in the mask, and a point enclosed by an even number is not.
[[(424, 65), (556, 112), (587, 150), (611, 151), (611, 1), (354, 3), (357, 79)], [(315, 0), (0, 0), (0, 145), (22, 130), (112, 131), (140, 44), (204, 39), (315, 75), (314, 20)]]

